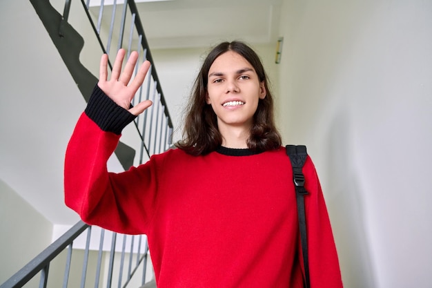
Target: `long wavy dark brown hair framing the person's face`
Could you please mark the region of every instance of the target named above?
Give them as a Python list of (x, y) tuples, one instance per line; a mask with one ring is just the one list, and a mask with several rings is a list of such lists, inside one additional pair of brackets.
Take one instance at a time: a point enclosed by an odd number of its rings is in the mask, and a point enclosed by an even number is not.
[(215, 46), (204, 59), (187, 106), (183, 139), (175, 144), (190, 155), (208, 154), (222, 144), (217, 117), (211, 105), (206, 103), (206, 93), (210, 66), (217, 57), (228, 51), (242, 55), (255, 69), (259, 81), (264, 81), (266, 88), (266, 97), (259, 99), (257, 111), (253, 115), (248, 148), (252, 151), (268, 151), (279, 148), (282, 144), (275, 126), (273, 97), (268, 88), (267, 75), (257, 53), (241, 41), (223, 42)]

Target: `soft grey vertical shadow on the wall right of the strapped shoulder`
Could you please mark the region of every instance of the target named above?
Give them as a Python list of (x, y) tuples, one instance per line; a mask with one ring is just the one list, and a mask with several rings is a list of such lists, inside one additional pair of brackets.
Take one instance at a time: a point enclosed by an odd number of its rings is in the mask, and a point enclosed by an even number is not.
[(362, 187), (357, 180), (349, 115), (340, 109), (328, 131), (328, 210), (344, 285), (350, 288), (376, 287), (371, 249), (364, 227)]

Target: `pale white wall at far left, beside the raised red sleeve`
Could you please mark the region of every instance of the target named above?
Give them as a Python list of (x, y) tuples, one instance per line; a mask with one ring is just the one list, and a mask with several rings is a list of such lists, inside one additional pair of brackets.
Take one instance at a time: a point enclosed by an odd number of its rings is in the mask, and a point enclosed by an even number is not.
[(30, 1), (0, 2), (0, 39), (1, 180), (50, 222), (75, 224), (63, 160), (86, 102)]

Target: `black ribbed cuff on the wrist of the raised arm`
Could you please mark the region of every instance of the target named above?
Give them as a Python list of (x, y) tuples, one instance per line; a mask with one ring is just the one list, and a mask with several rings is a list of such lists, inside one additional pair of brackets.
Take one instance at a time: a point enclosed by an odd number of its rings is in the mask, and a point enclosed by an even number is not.
[(124, 127), (136, 117), (112, 101), (97, 85), (93, 89), (85, 113), (103, 131), (117, 135), (120, 135)]

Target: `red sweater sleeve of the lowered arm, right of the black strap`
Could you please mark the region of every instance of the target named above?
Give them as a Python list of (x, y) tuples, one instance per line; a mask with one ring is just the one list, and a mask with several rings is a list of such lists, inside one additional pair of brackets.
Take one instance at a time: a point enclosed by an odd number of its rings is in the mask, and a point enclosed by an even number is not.
[(304, 203), (311, 287), (340, 288), (343, 287), (342, 277), (331, 223), (320, 180), (310, 157), (306, 160), (303, 171), (306, 178), (305, 188), (308, 191)]

